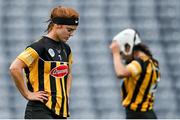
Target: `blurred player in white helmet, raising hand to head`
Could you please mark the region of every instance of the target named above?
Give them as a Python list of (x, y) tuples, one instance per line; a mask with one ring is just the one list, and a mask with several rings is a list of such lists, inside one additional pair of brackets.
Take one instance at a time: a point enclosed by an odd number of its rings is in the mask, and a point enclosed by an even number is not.
[(122, 105), (126, 118), (157, 119), (153, 103), (160, 71), (151, 51), (134, 29), (125, 29), (117, 34), (110, 49), (116, 76), (123, 78)]

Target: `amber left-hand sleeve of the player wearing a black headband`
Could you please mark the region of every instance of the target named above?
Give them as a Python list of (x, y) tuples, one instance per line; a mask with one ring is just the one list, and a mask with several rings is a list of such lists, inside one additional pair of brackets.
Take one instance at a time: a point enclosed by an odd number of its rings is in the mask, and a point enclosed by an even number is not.
[(38, 57), (38, 53), (33, 48), (28, 47), (17, 58), (29, 67)]

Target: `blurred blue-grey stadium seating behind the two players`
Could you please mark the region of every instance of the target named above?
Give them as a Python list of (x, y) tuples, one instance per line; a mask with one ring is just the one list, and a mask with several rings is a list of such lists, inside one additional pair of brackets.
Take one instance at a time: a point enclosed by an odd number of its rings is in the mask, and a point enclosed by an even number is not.
[(74, 7), (80, 25), (69, 41), (74, 55), (70, 118), (125, 118), (109, 43), (136, 28), (160, 62), (159, 118), (180, 118), (180, 0), (0, 0), (0, 118), (23, 118), (26, 100), (8, 72), (13, 59), (45, 34), (50, 9)]

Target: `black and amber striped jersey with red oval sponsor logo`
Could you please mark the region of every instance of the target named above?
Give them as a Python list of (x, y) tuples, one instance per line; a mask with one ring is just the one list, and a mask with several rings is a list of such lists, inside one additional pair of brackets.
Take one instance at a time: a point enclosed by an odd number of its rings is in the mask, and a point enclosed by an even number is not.
[(25, 68), (27, 87), (30, 91), (46, 91), (44, 104), (55, 114), (68, 117), (67, 78), (72, 64), (70, 47), (43, 36), (23, 51), (18, 59)]

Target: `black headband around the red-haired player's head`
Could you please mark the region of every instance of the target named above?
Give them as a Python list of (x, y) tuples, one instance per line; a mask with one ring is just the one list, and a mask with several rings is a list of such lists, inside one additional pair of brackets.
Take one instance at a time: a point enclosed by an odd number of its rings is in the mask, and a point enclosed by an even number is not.
[(52, 22), (58, 25), (78, 25), (79, 18), (62, 18), (55, 17), (52, 19)]

